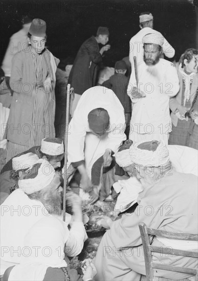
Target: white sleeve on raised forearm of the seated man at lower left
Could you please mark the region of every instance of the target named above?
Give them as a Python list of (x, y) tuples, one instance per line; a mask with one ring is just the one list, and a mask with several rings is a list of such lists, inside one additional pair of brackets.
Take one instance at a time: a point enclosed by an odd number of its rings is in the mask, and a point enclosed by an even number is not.
[(86, 239), (87, 233), (83, 222), (72, 222), (69, 237), (65, 243), (65, 254), (68, 256), (80, 254)]

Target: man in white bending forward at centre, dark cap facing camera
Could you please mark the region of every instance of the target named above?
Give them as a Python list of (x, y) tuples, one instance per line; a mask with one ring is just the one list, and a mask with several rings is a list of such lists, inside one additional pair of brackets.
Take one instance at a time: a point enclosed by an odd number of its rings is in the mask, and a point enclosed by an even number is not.
[(91, 202), (98, 199), (100, 173), (92, 175), (91, 168), (101, 156), (98, 171), (110, 166), (111, 155), (126, 139), (125, 127), (124, 109), (111, 89), (95, 86), (83, 93), (68, 127), (68, 162), (81, 175), (80, 196), (84, 190)]

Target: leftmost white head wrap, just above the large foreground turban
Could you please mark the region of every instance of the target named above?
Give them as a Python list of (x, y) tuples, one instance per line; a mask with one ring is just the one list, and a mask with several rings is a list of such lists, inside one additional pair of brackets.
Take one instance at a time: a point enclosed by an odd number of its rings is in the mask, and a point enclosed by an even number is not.
[(27, 153), (18, 157), (12, 158), (12, 169), (15, 171), (31, 169), (34, 164), (39, 160), (38, 155), (35, 153)]

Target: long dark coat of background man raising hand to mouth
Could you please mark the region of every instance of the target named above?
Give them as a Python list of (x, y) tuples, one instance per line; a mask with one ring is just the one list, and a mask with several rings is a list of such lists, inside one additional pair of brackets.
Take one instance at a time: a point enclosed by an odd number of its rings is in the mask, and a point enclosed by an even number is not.
[(96, 85), (98, 63), (102, 61), (99, 51), (94, 36), (87, 39), (78, 51), (68, 80), (78, 95)]

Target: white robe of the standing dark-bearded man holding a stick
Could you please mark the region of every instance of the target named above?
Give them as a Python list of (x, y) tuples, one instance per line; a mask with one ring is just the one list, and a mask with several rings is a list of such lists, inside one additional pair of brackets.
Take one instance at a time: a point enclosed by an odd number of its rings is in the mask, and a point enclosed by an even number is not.
[[(164, 139), (167, 144), (168, 133), (171, 131), (169, 98), (176, 96), (179, 91), (176, 67), (164, 59), (160, 59), (154, 66), (147, 66), (143, 61), (138, 66), (138, 79), (138, 89), (146, 96), (132, 99), (133, 87), (137, 87), (133, 69), (127, 91), (133, 108), (129, 138), (139, 142), (142, 141), (141, 134), (144, 134), (144, 138), (149, 136), (150, 140)], [(145, 141), (149, 139), (145, 138)]]

